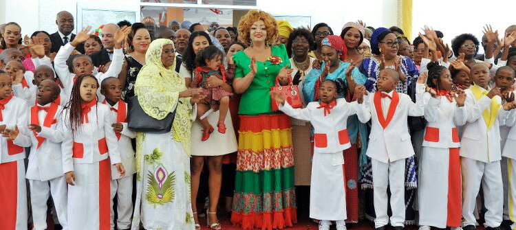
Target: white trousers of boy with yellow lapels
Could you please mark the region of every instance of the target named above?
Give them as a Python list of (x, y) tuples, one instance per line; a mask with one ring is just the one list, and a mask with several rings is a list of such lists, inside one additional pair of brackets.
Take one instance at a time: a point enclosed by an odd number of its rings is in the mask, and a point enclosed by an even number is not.
[(484, 215), (485, 227), (499, 227), (502, 223), (504, 209), (504, 189), (502, 185), (502, 171), (500, 161), (485, 163), (461, 157), (462, 168), (462, 226), (477, 223), (473, 211), (475, 201), (480, 190), (480, 183), (484, 192), (484, 206), (487, 211)]

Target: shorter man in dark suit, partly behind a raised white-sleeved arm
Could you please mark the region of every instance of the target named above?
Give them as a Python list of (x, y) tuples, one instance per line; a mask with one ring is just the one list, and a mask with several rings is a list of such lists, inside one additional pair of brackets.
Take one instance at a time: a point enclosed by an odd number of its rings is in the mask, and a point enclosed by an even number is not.
[(102, 29), (102, 45), (103, 49), (100, 51), (90, 54), (89, 57), (92, 58), (93, 65), (98, 67), (100, 65), (105, 65), (106, 62), (109, 62), (113, 59), (113, 48), (115, 47), (115, 34), (120, 30), (120, 27), (114, 23), (105, 24)]

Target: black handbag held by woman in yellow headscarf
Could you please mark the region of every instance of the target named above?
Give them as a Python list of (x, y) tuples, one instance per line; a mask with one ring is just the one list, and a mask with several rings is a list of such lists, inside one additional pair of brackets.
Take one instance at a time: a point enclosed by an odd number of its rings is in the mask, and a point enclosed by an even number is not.
[(138, 96), (133, 96), (129, 98), (129, 113), (127, 115), (127, 126), (135, 132), (168, 133), (172, 129), (175, 109), (164, 119), (155, 119), (143, 111), (140, 102), (138, 102)]

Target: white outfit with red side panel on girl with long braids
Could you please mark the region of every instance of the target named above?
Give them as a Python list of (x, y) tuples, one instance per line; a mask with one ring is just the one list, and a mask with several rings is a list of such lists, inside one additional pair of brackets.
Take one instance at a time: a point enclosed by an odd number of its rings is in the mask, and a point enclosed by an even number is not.
[(67, 113), (58, 124), (63, 124), (59, 125), (64, 135), (63, 172), (76, 176), (75, 185), (68, 185), (67, 209), (74, 210), (68, 211), (69, 229), (110, 229), (110, 165), (120, 163), (120, 151), (109, 106), (100, 102), (92, 106), (89, 121), (73, 135)]

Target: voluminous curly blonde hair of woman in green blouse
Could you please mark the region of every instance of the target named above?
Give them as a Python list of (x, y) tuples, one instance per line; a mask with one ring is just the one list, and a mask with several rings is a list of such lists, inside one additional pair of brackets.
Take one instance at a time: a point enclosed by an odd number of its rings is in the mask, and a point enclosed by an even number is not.
[(268, 12), (261, 10), (250, 10), (246, 15), (242, 16), (238, 23), (238, 40), (244, 45), (250, 45), (250, 30), (252, 23), (262, 20), (265, 23), (267, 37), (265, 43), (272, 45), (278, 36), (278, 25), (276, 19)]

